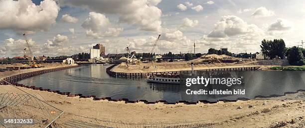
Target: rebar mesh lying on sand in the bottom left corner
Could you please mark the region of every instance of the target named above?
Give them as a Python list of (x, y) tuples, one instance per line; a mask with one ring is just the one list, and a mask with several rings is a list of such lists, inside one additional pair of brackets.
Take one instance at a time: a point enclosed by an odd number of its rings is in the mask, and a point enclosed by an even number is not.
[[(47, 127), (63, 113), (40, 94), (31, 95), (1, 79), (0, 83), (3, 84), (0, 85), (0, 126)], [(4, 119), (31, 119), (33, 123), (7, 123)]]

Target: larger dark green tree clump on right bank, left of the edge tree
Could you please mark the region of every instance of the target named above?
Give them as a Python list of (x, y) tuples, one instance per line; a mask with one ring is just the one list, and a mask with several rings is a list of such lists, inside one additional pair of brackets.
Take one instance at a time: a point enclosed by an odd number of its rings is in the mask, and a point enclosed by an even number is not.
[(286, 45), (283, 39), (274, 39), (273, 41), (264, 39), (260, 47), (262, 53), (270, 59), (274, 59), (277, 56), (284, 58)]

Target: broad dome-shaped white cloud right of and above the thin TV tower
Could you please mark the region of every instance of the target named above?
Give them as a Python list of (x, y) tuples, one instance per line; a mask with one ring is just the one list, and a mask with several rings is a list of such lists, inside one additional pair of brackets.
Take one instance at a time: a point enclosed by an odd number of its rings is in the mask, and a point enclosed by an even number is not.
[(222, 18), (216, 22), (214, 29), (208, 34), (207, 37), (224, 39), (229, 36), (242, 34), (257, 36), (263, 35), (263, 33), (263, 30), (258, 28), (255, 24), (247, 24), (247, 22), (237, 16), (228, 15), (222, 16)]

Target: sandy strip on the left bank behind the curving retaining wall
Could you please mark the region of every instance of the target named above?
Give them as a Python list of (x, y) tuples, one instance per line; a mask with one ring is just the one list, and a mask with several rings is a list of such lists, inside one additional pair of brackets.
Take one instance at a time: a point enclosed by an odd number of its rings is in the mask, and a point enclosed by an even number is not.
[[(14, 66), (27, 66), (26, 64), (13, 64)], [(0, 64), (0, 68), (5, 68), (6, 66), (13, 66), (12, 64)], [(12, 70), (12, 71), (4, 71), (0, 72), (0, 78), (4, 78), (7, 76), (19, 74), (19, 73), (25, 73), (25, 72), (31, 72), (36, 70), (43, 70), (43, 69), (49, 69), (49, 68), (56, 68), (56, 67), (65, 67), (65, 66), (71, 66), (71, 65), (77, 65), (77, 64), (64, 64), (64, 63), (51, 63), (51, 64), (42, 64), (44, 67), (40, 68), (30, 68), (30, 69), (21, 69), (21, 70)]]

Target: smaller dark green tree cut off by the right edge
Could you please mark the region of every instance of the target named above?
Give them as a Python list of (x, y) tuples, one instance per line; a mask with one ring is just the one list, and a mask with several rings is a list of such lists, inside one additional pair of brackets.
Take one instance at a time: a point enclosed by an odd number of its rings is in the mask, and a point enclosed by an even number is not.
[(302, 53), (301, 48), (298, 48), (296, 46), (292, 47), (288, 50), (288, 62), (291, 65), (303, 65), (304, 62), (304, 56)]

